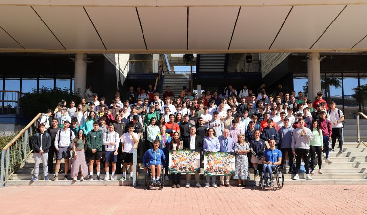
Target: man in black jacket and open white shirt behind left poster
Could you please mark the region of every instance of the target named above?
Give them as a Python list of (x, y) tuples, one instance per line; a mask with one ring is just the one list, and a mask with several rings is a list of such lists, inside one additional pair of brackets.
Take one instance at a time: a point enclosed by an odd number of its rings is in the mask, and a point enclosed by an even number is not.
[[(196, 135), (196, 128), (194, 126), (190, 127), (190, 136), (183, 140), (183, 149), (188, 150), (203, 150), (203, 139)], [(191, 174), (186, 174), (186, 187), (190, 187)], [(195, 173), (196, 187), (201, 187), (199, 183), (199, 173)]]

